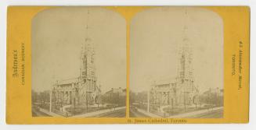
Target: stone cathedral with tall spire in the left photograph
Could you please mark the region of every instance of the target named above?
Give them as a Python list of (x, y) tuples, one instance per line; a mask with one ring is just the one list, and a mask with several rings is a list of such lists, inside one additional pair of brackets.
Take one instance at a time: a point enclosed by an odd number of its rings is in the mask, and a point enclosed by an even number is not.
[[(88, 30), (88, 25), (86, 26)], [(52, 101), (56, 105), (88, 105), (99, 104), (101, 93), (97, 85), (95, 50), (92, 40), (85, 38), (81, 47), (80, 76), (73, 79), (57, 80), (52, 84)]]

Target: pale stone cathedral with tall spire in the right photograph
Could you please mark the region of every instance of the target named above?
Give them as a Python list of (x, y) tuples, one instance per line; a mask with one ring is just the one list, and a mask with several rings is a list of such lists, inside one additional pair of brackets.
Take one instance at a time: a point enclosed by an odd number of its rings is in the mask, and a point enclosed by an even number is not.
[(183, 43), (178, 54), (178, 76), (173, 81), (153, 83), (150, 90), (150, 105), (178, 107), (198, 104), (199, 90), (193, 78), (192, 53), (186, 30), (185, 26), (185, 37), (182, 39)]

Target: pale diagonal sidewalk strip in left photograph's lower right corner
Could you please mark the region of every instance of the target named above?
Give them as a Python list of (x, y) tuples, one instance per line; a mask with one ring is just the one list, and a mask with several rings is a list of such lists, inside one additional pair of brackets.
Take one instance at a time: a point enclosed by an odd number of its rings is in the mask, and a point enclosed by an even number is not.
[(87, 113), (87, 114), (79, 114), (79, 115), (74, 115), (70, 118), (86, 118), (86, 117), (93, 117), (93, 116), (96, 116), (98, 114), (104, 114), (106, 112), (111, 112), (111, 111), (117, 111), (117, 110), (121, 110), (121, 109), (124, 109), (125, 107), (116, 107), (115, 109), (114, 108), (110, 108), (110, 109), (105, 109), (105, 110), (102, 110), (102, 111), (94, 111), (94, 112), (90, 112), (90, 113)]

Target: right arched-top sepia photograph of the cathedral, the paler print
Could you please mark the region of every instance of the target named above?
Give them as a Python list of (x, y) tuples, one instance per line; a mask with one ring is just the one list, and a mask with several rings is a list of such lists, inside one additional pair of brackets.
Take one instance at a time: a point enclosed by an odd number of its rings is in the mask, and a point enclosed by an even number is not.
[(197, 7), (137, 13), (130, 28), (131, 118), (223, 118), (222, 18)]

